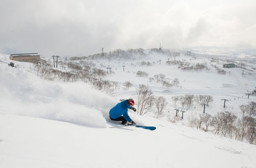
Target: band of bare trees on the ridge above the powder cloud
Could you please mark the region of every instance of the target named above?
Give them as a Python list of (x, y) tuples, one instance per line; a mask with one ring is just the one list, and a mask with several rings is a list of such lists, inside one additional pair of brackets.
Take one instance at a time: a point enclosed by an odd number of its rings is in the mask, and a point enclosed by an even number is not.
[[(103, 90), (107, 94), (113, 94), (120, 87), (118, 82), (105, 80), (106, 72), (95, 68), (91, 62), (60, 62), (65, 68), (63, 71), (54, 69), (50, 62), (41, 60), (40, 64), (34, 65), (34, 71), (42, 79), (58, 79), (63, 82), (83, 81), (91, 83), (96, 89)], [(61, 69), (61, 68), (60, 68)]]

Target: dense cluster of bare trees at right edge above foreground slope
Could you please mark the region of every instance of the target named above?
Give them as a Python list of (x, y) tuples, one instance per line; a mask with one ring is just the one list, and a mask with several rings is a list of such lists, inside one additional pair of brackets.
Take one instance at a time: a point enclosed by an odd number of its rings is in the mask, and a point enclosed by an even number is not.
[(208, 131), (209, 127), (215, 134), (233, 138), (239, 141), (247, 141), (256, 144), (256, 102), (249, 102), (248, 105), (241, 105), (240, 110), (243, 116), (239, 118), (230, 111), (219, 112), (214, 116), (200, 114), (199, 117), (190, 116), (188, 119), (190, 127), (196, 127)]

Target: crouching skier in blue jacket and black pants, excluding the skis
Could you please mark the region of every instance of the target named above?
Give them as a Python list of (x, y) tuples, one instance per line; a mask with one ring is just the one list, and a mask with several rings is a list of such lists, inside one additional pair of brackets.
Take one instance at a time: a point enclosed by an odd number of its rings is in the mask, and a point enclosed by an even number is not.
[(127, 122), (136, 126), (136, 123), (129, 117), (128, 108), (136, 111), (133, 99), (123, 100), (117, 103), (113, 108), (110, 109), (110, 119), (114, 121), (122, 121), (121, 124), (127, 124)]

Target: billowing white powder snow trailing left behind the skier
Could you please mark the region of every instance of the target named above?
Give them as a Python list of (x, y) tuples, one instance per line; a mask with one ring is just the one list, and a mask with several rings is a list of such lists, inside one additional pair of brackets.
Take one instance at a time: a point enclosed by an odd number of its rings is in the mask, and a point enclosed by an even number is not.
[(2, 114), (106, 127), (105, 118), (116, 103), (86, 83), (44, 81), (33, 73), (5, 64), (0, 66), (0, 79)]

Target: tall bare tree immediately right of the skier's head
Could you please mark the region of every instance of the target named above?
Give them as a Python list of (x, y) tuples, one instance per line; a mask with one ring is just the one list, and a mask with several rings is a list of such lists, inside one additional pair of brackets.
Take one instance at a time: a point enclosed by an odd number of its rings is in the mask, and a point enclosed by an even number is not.
[(138, 114), (143, 116), (150, 111), (150, 101), (153, 96), (152, 90), (145, 85), (139, 85), (137, 89)]

